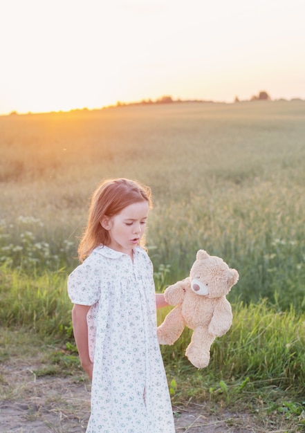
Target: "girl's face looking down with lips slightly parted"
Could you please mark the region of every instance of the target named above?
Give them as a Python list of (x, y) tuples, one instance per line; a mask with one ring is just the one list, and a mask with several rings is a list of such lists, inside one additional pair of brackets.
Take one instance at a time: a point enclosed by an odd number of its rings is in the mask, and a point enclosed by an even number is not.
[(109, 248), (124, 252), (132, 257), (135, 248), (144, 234), (149, 203), (139, 201), (124, 208), (119, 214), (105, 216), (101, 224), (110, 235)]

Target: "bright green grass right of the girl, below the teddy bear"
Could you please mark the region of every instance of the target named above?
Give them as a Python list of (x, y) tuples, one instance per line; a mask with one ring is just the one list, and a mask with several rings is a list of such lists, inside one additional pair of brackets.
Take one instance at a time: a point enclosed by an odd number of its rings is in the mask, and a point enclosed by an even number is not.
[[(245, 306), (232, 305), (234, 319), (230, 331), (214, 341), (211, 360), (206, 369), (194, 371), (184, 357), (190, 343), (191, 331), (185, 329), (172, 347), (163, 346), (163, 358), (172, 377), (183, 369), (189, 375), (187, 390), (190, 396), (200, 397), (215, 378), (223, 380), (235, 391), (247, 379), (250, 389), (281, 389), (287, 395), (304, 397), (305, 360), (304, 315), (295, 311), (282, 312), (271, 308), (266, 301)], [(159, 313), (162, 322), (164, 312)], [(184, 357), (184, 358), (183, 358)], [(289, 391), (290, 390), (290, 391)], [(212, 394), (214, 389), (212, 389)]]

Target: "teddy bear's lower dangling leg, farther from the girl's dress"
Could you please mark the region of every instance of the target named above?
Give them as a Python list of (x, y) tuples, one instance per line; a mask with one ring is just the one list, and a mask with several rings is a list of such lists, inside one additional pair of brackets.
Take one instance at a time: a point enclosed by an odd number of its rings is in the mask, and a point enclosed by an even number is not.
[(209, 365), (210, 347), (214, 339), (214, 336), (207, 332), (207, 328), (198, 326), (194, 329), (192, 341), (185, 351), (185, 355), (192, 362), (192, 365), (198, 369)]

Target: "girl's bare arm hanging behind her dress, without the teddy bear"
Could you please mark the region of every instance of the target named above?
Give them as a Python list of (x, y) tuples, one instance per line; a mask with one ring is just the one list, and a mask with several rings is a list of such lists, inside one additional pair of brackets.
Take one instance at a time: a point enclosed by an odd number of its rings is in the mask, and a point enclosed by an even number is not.
[(87, 313), (89, 305), (74, 304), (72, 308), (73, 333), (80, 356), (80, 363), (89, 378), (92, 379), (93, 363), (89, 357)]

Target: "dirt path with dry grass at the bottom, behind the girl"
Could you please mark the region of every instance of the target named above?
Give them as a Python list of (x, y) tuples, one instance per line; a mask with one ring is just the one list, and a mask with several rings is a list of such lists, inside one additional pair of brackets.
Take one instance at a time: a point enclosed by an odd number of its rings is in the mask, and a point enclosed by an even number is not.
[[(28, 380), (25, 380), (25, 376)], [(32, 377), (31, 377), (32, 376)], [(22, 398), (0, 403), (1, 433), (81, 433), (89, 418), (90, 389), (71, 378), (33, 378), (24, 372)], [(244, 416), (207, 416), (203, 405), (174, 407), (176, 432), (257, 432)]]

